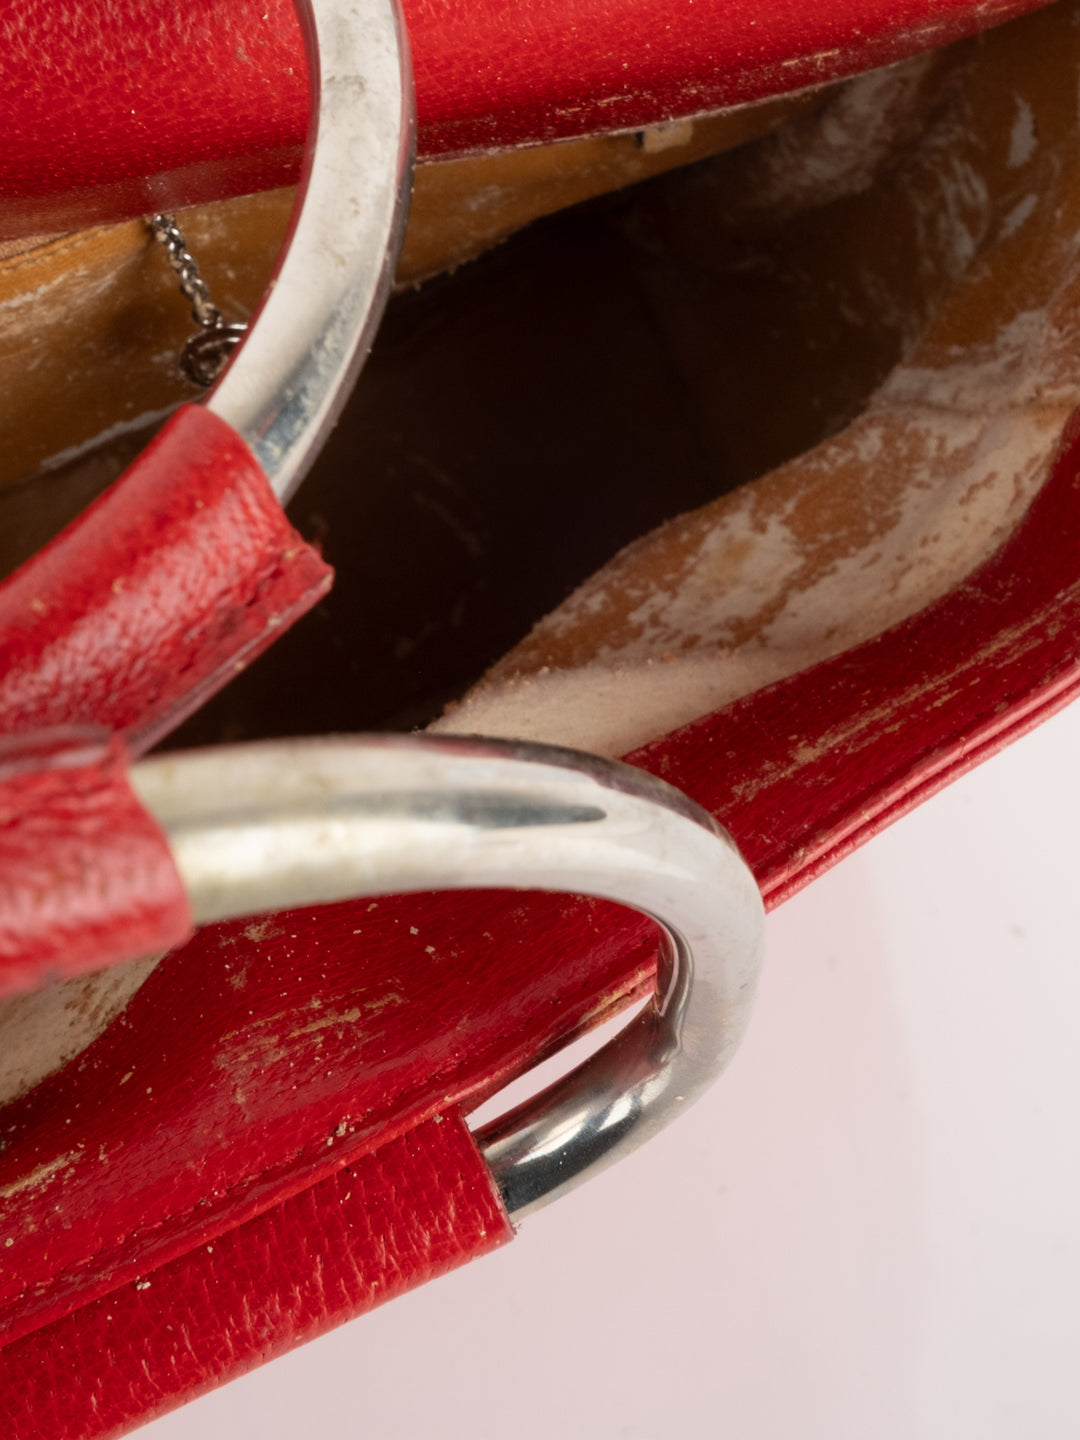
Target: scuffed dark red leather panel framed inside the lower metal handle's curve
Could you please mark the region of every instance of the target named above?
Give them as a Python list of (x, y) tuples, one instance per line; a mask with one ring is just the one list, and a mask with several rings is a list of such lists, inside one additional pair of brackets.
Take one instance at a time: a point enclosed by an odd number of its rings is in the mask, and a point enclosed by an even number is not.
[(624, 996), (628, 936), (647, 982), (649, 922), (556, 896), (361, 900), (197, 932), (78, 1066), (4, 1107), (0, 1344), (521, 1071)]

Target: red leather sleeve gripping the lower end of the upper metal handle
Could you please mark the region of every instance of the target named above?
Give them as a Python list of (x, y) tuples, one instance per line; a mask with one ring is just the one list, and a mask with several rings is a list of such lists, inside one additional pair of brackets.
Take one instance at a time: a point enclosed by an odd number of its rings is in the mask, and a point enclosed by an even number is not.
[(94, 724), (144, 750), (331, 577), (243, 441), (186, 405), (0, 585), (0, 733)]

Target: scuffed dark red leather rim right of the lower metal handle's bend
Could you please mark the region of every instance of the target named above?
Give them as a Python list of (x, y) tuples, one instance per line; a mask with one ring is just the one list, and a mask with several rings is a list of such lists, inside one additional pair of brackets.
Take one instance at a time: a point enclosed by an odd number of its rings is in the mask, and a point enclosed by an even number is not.
[(769, 909), (1080, 694), (1080, 413), (1007, 544), (877, 639), (629, 756), (730, 829)]

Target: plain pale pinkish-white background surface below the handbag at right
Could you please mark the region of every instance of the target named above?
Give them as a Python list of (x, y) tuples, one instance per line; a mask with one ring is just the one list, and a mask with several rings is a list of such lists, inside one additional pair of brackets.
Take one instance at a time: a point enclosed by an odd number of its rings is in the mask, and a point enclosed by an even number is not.
[(769, 920), (677, 1126), (147, 1440), (1080, 1436), (1080, 706)]

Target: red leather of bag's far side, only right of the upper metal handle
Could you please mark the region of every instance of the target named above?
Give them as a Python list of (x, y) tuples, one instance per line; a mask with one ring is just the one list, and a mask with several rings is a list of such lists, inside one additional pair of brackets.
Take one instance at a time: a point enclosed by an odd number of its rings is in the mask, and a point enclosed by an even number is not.
[(632, 130), (933, 49), (1044, 0), (405, 0), (422, 150)]

